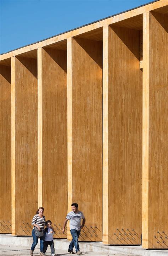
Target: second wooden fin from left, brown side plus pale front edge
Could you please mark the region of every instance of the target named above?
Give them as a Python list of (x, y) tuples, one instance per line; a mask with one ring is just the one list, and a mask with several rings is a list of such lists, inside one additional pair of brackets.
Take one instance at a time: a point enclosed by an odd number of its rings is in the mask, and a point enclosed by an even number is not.
[(31, 235), (38, 208), (37, 59), (11, 63), (12, 234)]

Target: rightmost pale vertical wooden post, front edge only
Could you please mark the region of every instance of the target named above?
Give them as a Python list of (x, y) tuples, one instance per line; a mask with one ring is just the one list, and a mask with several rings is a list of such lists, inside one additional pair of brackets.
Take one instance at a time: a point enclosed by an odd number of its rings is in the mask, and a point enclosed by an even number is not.
[(142, 247), (148, 248), (149, 234), (149, 12), (143, 15), (142, 96)]

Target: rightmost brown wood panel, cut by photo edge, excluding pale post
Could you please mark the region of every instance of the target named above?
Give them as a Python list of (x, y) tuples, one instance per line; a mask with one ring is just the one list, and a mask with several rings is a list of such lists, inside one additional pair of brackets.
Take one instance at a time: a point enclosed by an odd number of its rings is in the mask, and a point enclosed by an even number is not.
[[(149, 16), (149, 248), (168, 248), (168, 15)], [(156, 236), (156, 237), (155, 237)], [(159, 242), (159, 243), (158, 243)]]

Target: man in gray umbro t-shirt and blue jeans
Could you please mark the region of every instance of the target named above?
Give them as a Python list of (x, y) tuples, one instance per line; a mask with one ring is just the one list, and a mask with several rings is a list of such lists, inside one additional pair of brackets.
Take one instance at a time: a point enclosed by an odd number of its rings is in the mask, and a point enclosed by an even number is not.
[[(83, 215), (83, 212), (80, 212), (78, 210), (77, 203), (72, 203), (71, 206), (72, 206), (72, 212), (69, 212), (67, 214), (65, 222), (63, 223), (62, 232), (63, 233), (65, 232), (65, 226), (68, 220), (70, 220), (70, 232), (72, 235), (72, 241), (71, 241), (71, 244), (69, 245), (68, 252), (70, 252), (71, 254), (74, 254), (73, 247), (75, 246), (77, 255), (81, 255), (82, 252), (80, 252), (79, 250), (78, 238), (80, 235), (80, 230), (83, 229), (86, 219), (85, 219), (85, 216)], [(82, 225), (81, 225), (81, 220), (82, 220)]]

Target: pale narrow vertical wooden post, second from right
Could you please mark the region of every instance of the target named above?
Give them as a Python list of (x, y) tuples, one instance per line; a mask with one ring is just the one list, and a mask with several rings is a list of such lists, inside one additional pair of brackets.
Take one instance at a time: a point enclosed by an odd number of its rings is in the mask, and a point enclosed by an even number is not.
[(108, 244), (108, 46), (109, 26), (103, 27), (103, 244)]

